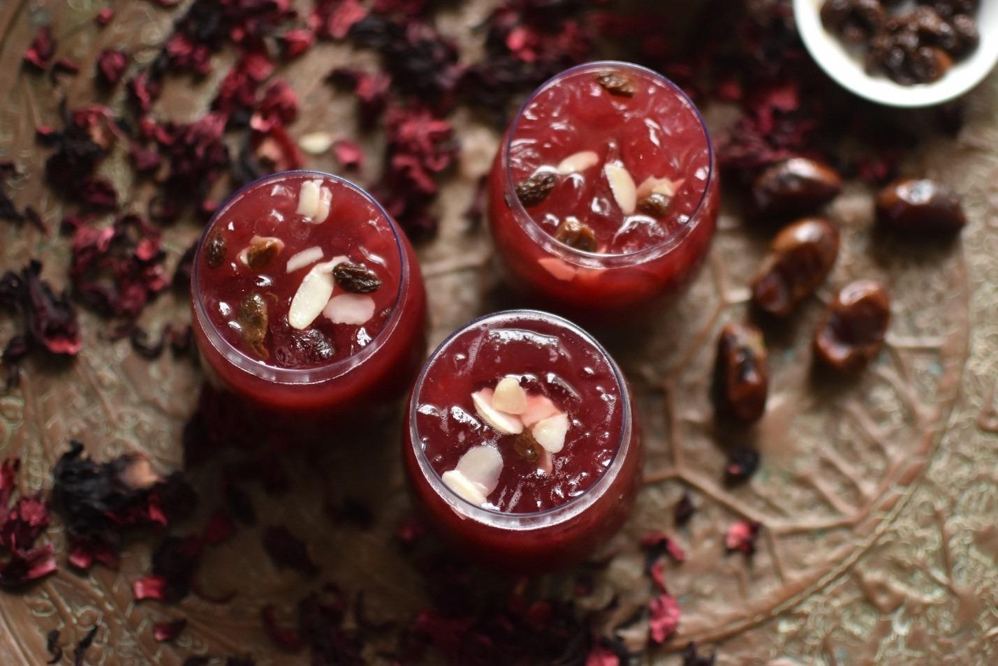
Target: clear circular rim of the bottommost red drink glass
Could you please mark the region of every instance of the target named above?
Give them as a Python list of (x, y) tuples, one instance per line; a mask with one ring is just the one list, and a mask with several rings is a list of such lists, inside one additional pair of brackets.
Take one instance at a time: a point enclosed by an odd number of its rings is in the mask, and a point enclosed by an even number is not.
[[(448, 488), (447, 485), (443, 483), (441, 475), (433, 469), (432, 465), (430, 465), (426, 452), (419, 446), (419, 431), (416, 425), (416, 414), (419, 408), (419, 392), (433, 361), (443, 351), (445, 351), (445, 349), (455, 338), (457, 338), (457, 336), (464, 333), (469, 328), (492, 319), (514, 319), (517, 317), (554, 321), (560, 326), (571, 330), (585, 342), (592, 345), (593, 348), (596, 349), (596, 351), (599, 352), (604, 358), (607, 366), (613, 371), (613, 375), (617, 381), (618, 390), (621, 396), (620, 405), (622, 410), (620, 436), (614, 449), (613, 459), (611, 460), (610, 465), (603, 471), (603, 474), (600, 475), (599, 479), (597, 479), (592, 486), (583, 491), (582, 495), (576, 498), (569, 499), (568, 501), (558, 504), (557, 506), (552, 506), (551, 508), (524, 513), (487, 508), (460, 497)], [(579, 515), (583, 510), (591, 506), (606, 494), (608, 489), (617, 480), (621, 469), (624, 467), (624, 461), (631, 450), (631, 439), (634, 428), (631, 412), (631, 396), (628, 391), (627, 380), (624, 377), (624, 373), (621, 371), (620, 367), (617, 365), (617, 362), (614, 361), (610, 353), (589, 332), (564, 317), (560, 317), (556, 314), (545, 312), (543, 310), (527, 308), (500, 310), (498, 312), (491, 312), (489, 314), (476, 317), (457, 330), (453, 331), (439, 345), (437, 345), (433, 352), (427, 357), (426, 363), (423, 364), (422, 370), (420, 370), (419, 376), (416, 378), (416, 382), (412, 387), (412, 395), (409, 399), (407, 414), (408, 435), (410, 442), (409, 446), (412, 447), (416, 463), (418, 464), (420, 472), (429, 484), (430, 488), (440, 499), (443, 499), (455, 511), (466, 517), (493, 527), (520, 530), (538, 529), (565, 522)]]

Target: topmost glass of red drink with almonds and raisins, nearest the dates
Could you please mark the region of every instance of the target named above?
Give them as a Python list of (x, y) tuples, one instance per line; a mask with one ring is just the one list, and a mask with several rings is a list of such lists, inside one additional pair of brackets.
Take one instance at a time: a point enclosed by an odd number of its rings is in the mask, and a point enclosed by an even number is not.
[(703, 120), (628, 63), (563, 72), (513, 120), (489, 175), (490, 223), (513, 284), (586, 318), (674, 294), (707, 253), (718, 173)]

